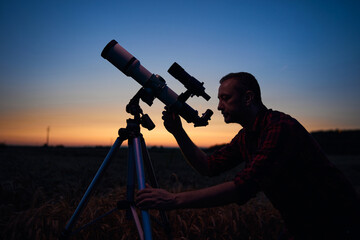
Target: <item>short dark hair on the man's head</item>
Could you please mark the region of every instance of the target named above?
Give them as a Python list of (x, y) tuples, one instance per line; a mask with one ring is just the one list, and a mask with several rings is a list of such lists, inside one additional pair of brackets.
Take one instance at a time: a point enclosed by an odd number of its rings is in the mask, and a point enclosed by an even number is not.
[(220, 84), (228, 79), (235, 79), (240, 83), (240, 88), (238, 88), (238, 90), (241, 93), (247, 90), (252, 91), (255, 94), (255, 102), (262, 104), (260, 86), (252, 74), (247, 72), (229, 73), (220, 79)]

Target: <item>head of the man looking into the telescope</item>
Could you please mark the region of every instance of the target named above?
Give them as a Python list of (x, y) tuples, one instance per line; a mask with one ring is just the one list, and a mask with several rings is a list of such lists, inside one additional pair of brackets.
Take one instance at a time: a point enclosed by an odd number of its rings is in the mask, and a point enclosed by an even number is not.
[(218, 109), (226, 123), (250, 124), (264, 105), (256, 78), (250, 73), (230, 73), (220, 80)]

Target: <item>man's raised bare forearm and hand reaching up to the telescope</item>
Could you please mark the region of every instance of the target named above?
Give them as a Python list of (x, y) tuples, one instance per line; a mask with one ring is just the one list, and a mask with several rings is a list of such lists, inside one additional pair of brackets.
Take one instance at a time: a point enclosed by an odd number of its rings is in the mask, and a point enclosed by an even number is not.
[(175, 137), (186, 160), (202, 175), (210, 175), (207, 155), (194, 144), (182, 127), (179, 115), (164, 111), (163, 117), (165, 128)]

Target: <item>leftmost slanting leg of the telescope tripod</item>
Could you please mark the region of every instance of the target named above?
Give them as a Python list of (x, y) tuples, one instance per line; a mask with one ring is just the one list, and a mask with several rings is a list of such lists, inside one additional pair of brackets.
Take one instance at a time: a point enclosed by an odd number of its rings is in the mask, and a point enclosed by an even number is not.
[(88, 203), (90, 196), (94, 190), (95, 185), (99, 182), (100, 178), (102, 177), (104, 171), (106, 170), (106, 168), (109, 166), (109, 163), (111, 162), (114, 154), (117, 152), (117, 150), (120, 148), (122, 142), (124, 140), (120, 137), (118, 137), (116, 139), (116, 141), (114, 142), (113, 146), (111, 147), (109, 153), (107, 154), (106, 158), (104, 159), (103, 163), (101, 164), (100, 168), (98, 169), (98, 171), (96, 172), (95, 177), (93, 178), (93, 180), (91, 181), (89, 187), (87, 188), (84, 196), (82, 197), (79, 205), (77, 206), (75, 212), (73, 213), (72, 217), (70, 218), (69, 222), (67, 223), (63, 233), (62, 233), (62, 238), (66, 239), (67, 237), (70, 236), (72, 228), (75, 226), (76, 221), (78, 220), (80, 214), (82, 213), (82, 211), (84, 210), (86, 204)]

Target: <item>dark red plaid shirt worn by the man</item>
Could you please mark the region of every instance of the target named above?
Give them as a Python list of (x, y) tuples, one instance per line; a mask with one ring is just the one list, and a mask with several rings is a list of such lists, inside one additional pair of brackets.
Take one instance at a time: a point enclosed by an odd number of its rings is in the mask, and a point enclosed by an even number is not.
[(304, 239), (314, 228), (321, 232), (349, 224), (344, 219), (349, 219), (358, 204), (354, 189), (289, 115), (261, 111), (251, 129), (240, 130), (229, 144), (208, 157), (214, 175), (242, 162), (245, 167), (234, 179), (239, 204), (263, 191), (289, 231)]

